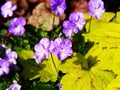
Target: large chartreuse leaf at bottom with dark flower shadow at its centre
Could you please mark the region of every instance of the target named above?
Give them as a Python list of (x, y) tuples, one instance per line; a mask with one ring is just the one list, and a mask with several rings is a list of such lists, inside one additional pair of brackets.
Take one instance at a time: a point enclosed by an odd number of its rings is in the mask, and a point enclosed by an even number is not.
[(73, 53), (61, 67), (60, 70), (66, 73), (60, 81), (62, 90), (105, 90), (115, 77), (112, 71), (97, 67), (97, 57), (84, 57), (78, 53)]

